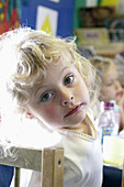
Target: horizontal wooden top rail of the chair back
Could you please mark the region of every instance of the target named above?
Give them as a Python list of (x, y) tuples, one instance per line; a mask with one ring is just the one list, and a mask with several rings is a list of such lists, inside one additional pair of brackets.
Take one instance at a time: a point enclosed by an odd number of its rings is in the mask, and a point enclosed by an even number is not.
[(41, 150), (12, 146), (8, 148), (7, 156), (2, 155), (2, 150), (0, 147), (0, 164), (41, 172)]

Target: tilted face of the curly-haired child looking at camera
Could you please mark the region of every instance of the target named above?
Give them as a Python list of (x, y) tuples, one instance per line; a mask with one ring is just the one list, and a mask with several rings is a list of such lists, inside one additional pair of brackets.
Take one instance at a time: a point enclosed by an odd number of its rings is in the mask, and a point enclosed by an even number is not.
[(77, 68), (60, 61), (46, 69), (44, 81), (31, 90), (27, 110), (55, 128), (75, 128), (87, 113), (89, 92)]

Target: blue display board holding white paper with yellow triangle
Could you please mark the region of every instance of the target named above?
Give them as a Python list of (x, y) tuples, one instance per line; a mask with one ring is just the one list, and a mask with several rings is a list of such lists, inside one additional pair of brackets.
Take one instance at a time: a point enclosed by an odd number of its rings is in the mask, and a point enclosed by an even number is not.
[(72, 33), (75, 0), (22, 0), (21, 24), (53, 35)]

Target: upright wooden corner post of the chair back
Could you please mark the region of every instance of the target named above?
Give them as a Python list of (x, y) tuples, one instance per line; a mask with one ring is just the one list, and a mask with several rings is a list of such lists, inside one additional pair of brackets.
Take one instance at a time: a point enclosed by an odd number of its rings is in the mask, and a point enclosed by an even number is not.
[(64, 150), (44, 148), (42, 160), (42, 186), (63, 187)]

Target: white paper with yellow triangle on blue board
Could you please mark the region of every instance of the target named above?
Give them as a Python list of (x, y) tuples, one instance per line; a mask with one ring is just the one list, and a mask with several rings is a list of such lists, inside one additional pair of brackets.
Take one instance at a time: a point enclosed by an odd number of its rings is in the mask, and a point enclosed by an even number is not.
[(57, 33), (58, 12), (56, 10), (37, 7), (36, 30), (45, 31), (52, 35)]

